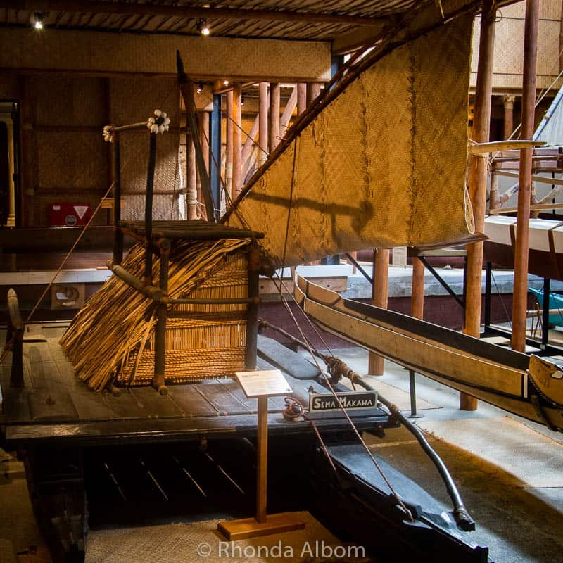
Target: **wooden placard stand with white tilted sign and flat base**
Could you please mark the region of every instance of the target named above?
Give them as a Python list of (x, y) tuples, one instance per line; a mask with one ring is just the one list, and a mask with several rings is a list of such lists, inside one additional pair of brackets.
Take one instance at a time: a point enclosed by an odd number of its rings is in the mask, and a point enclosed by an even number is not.
[(249, 399), (258, 399), (258, 463), (256, 469), (256, 517), (227, 520), (217, 529), (229, 540), (268, 536), (292, 530), (302, 530), (305, 523), (291, 512), (266, 514), (267, 457), (268, 457), (268, 397), (291, 393), (284, 374), (279, 369), (238, 372), (236, 379)]

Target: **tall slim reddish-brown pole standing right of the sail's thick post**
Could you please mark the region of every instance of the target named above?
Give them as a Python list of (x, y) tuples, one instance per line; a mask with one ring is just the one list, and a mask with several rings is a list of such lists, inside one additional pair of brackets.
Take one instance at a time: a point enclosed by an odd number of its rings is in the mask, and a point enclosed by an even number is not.
[[(538, 60), (538, 0), (526, 0), (524, 21), (524, 74), (522, 77), (522, 139), (533, 136)], [(518, 221), (514, 251), (514, 293), (512, 298), (512, 348), (526, 348), (526, 303), (528, 300), (528, 245), (533, 148), (520, 151)]]

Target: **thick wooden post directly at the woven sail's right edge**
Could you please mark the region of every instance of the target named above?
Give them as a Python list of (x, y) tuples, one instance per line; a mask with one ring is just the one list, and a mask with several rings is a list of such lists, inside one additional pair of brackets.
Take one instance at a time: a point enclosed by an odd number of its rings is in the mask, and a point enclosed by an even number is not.
[[(493, 91), (493, 53), (495, 49), (496, 8), (494, 0), (483, 1), (481, 36), (479, 38), (479, 63), (475, 91), (473, 118), (474, 140), (486, 143), (491, 122), (491, 94)], [(475, 230), (483, 232), (485, 224), (485, 199), (487, 189), (487, 160), (484, 156), (471, 156), (469, 162), (469, 197), (473, 206)], [(483, 242), (467, 245), (467, 281), (464, 333), (479, 337), (481, 333), (481, 274), (483, 272)], [(476, 410), (476, 398), (461, 393), (460, 409)]]

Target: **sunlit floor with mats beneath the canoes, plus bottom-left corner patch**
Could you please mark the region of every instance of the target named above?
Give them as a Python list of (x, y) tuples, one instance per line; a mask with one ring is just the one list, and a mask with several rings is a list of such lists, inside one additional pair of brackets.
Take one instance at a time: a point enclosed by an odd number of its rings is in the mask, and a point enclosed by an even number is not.
[[(333, 350), (360, 373), (367, 352)], [(410, 412), (408, 372), (386, 362), (380, 377), (367, 376), (379, 391)], [(417, 375), (417, 424), (453, 474), (474, 517), (475, 543), (488, 545), (503, 563), (563, 562), (563, 434), (553, 433), (496, 407), (458, 409), (459, 393)], [(403, 428), (385, 438), (367, 436), (371, 448), (447, 505), (436, 469)], [(34, 523), (22, 465), (0, 456), (0, 563), (49, 562)], [(18, 555), (15, 555), (18, 552)], [(438, 561), (438, 559), (436, 559)]]

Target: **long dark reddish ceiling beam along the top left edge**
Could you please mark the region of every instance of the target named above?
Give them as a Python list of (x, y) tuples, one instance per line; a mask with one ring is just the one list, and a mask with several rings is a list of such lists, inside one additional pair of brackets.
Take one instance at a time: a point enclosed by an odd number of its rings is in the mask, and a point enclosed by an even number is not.
[(235, 20), (270, 20), (282, 22), (329, 23), (343, 25), (378, 25), (386, 18), (364, 18), (359, 15), (254, 10), (234, 8), (203, 8), (170, 6), (167, 4), (137, 4), (122, 1), (100, 2), (88, 0), (0, 0), (0, 8), (28, 11), (56, 11), (80, 13), (121, 13), (138, 15), (168, 15), (178, 18), (221, 18)]

